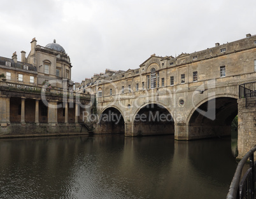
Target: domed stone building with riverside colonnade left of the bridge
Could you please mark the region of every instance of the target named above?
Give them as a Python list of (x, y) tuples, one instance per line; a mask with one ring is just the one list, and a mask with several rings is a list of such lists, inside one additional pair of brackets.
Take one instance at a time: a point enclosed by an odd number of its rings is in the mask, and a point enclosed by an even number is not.
[(80, 132), (90, 95), (73, 92), (71, 62), (62, 46), (31, 41), (21, 60), (0, 57), (0, 137)]

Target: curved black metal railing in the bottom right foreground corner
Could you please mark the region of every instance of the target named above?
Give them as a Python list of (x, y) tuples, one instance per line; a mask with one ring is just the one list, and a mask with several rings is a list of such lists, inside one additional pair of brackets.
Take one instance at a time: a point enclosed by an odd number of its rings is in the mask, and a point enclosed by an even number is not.
[[(236, 172), (229, 187), (229, 193), (227, 194), (227, 199), (255, 199), (256, 190), (256, 174), (254, 162), (254, 152), (256, 151), (256, 146), (248, 151), (241, 161), (238, 163)], [(241, 179), (241, 174), (246, 161), (250, 158), (250, 168), (247, 170), (243, 178)]]

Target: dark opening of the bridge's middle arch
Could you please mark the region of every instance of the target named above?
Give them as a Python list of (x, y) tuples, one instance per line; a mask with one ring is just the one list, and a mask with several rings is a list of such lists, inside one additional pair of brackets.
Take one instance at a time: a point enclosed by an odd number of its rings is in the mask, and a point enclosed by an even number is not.
[(174, 134), (174, 121), (169, 111), (159, 104), (142, 107), (134, 118), (134, 135)]

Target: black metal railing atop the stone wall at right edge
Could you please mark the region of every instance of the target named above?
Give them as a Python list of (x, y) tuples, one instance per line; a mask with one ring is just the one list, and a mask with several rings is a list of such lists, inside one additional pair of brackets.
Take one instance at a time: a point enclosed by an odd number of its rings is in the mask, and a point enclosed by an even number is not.
[(239, 85), (239, 98), (245, 98), (246, 108), (256, 107), (256, 81)]

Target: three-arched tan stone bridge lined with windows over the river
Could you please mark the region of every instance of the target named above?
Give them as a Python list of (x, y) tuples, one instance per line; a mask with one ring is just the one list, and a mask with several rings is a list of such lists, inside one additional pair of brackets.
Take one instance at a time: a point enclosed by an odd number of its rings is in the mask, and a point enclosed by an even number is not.
[(238, 86), (255, 81), (255, 71), (256, 36), (250, 35), (178, 57), (152, 55), (139, 69), (97, 79), (96, 133), (177, 140), (230, 135)]

